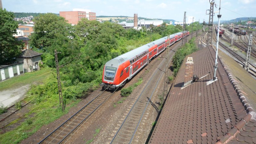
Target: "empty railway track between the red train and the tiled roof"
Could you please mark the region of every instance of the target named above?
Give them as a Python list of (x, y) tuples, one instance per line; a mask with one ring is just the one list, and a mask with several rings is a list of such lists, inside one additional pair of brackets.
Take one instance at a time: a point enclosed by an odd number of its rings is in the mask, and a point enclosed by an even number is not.
[[(172, 52), (172, 51), (171, 51)], [(169, 55), (171, 54), (169, 53)], [(171, 59), (170, 59), (171, 60)], [(140, 93), (139, 97), (133, 104), (132, 108), (124, 118), (121, 126), (117, 130), (111, 144), (129, 144), (135, 136), (135, 133), (140, 125), (140, 121), (148, 107), (151, 97), (156, 94), (156, 88), (158, 83), (163, 79), (163, 74), (165, 71), (165, 59), (159, 64), (159, 67), (155, 69), (154, 73), (151, 75), (150, 80), (144, 87), (143, 91)], [(159, 69), (164, 69), (163, 71)]]

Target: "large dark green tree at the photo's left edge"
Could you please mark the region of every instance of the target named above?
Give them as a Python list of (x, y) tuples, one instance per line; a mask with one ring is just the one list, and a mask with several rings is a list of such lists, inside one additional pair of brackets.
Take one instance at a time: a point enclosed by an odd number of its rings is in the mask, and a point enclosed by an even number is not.
[(12, 36), (18, 28), (18, 22), (13, 18), (12, 12), (0, 9), (0, 64), (13, 62), (21, 54), (22, 43)]

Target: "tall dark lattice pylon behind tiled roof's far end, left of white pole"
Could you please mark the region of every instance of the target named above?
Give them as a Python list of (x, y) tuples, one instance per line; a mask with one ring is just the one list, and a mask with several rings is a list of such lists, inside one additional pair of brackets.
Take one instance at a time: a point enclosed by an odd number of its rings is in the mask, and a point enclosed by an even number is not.
[[(208, 24), (208, 35), (207, 35), (207, 39), (206, 39), (206, 46), (209, 46), (212, 44), (212, 25), (213, 25), (213, 5), (214, 5), (214, 0), (212, 0), (212, 2), (210, 3), (211, 7), (209, 10), (209, 24)], [(207, 14), (207, 10), (206, 10), (206, 14)]]

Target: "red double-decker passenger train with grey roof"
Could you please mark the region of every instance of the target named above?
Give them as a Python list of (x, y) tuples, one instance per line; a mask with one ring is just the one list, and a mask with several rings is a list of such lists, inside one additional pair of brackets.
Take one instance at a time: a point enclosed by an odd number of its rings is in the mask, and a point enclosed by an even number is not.
[(130, 52), (126, 52), (112, 60), (109, 60), (103, 69), (102, 86), (104, 89), (115, 90), (119, 86), (123, 86), (126, 81), (130, 80), (137, 72), (140, 71), (148, 62), (163, 52), (169, 45), (182, 39), (182, 36), (188, 36), (189, 31), (175, 33), (155, 40), (151, 43), (140, 46)]

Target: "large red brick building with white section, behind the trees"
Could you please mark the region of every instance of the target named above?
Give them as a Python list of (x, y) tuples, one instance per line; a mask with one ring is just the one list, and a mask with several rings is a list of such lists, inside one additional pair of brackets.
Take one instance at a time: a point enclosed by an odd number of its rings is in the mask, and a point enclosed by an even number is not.
[(76, 25), (81, 19), (96, 20), (96, 13), (90, 10), (73, 9), (73, 11), (60, 12), (60, 16), (68, 20), (68, 23)]

